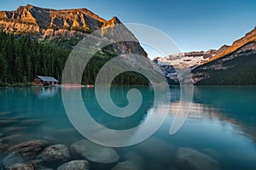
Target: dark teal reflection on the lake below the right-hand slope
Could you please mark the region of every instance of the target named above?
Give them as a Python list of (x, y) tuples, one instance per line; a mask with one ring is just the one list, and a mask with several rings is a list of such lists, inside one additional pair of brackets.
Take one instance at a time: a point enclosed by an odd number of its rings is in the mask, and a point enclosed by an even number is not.
[[(211, 91), (211, 95), (209, 95)], [(233, 127), (240, 128), (238, 132), (246, 133), (256, 139), (256, 91), (253, 86), (246, 87), (201, 87), (195, 88), (194, 100), (204, 108), (210, 117), (218, 118), (222, 122), (230, 122)], [(256, 140), (255, 140), (256, 141)]]

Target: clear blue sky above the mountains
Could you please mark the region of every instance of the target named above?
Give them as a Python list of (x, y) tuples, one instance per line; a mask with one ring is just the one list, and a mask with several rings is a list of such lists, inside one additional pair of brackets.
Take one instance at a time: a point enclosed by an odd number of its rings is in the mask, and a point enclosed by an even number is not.
[[(105, 20), (153, 26), (183, 52), (230, 45), (256, 26), (255, 0), (19, 0), (1, 1), (0, 10), (32, 4), (42, 8), (88, 8)], [(143, 46), (149, 57), (157, 55)]]

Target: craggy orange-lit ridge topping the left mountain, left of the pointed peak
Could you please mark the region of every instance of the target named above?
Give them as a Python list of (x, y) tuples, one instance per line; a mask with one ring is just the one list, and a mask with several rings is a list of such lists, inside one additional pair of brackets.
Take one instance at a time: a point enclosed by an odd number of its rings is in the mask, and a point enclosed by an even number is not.
[[(84, 29), (84, 31), (100, 28), (104, 22), (108, 21), (102, 19), (102, 17), (94, 14), (87, 8), (52, 9), (39, 8), (30, 4), (20, 6), (13, 11), (1, 11), (0, 20), (15, 22), (15, 24), (32, 24), (43, 30), (51, 28), (80, 28), (82, 30)], [(20, 29), (22, 30), (22, 28)]]

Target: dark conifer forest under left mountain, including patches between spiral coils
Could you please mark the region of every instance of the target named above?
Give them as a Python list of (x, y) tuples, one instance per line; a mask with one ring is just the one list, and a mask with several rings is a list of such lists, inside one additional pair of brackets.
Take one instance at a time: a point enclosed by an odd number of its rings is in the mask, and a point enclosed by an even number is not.
[[(70, 52), (70, 48), (58, 48), (50, 42), (38, 42), (25, 36), (15, 37), (0, 31), (0, 82), (32, 82), (37, 75), (55, 77), (61, 81)], [(105, 53), (97, 53), (85, 67), (82, 83), (94, 84), (102, 65), (113, 56), (109, 48), (105, 49)], [(148, 80), (137, 73), (125, 72), (114, 79), (114, 84), (147, 85)]]

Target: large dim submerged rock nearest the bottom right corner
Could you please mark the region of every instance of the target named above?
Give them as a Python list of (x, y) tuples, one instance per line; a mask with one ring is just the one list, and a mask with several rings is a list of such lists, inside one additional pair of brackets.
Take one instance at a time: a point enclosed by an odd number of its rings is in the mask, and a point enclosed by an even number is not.
[(197, 150), (190, 148), (179, 148), (176, 156), (177, 165), (191, 170), (217, 170), (219, 169), (218, 161), (212, 159)]

